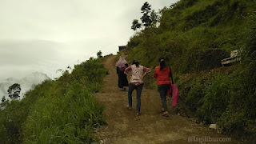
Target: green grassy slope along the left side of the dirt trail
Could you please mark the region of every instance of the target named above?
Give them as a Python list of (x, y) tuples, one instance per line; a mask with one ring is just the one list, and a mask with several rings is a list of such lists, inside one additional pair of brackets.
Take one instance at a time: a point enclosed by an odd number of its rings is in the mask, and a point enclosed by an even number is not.
[(94, 127), (105, 123), (104, 107), (92, 95), (108, 74), (99, 59), (90, 58), (69, 74), (46, 81), (21, 101), (0, 110), (0, 143), (90, 143)]

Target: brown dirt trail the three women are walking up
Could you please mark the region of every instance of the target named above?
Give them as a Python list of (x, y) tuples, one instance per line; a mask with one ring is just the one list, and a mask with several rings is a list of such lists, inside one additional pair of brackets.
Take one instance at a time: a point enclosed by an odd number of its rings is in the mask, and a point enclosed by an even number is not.
[[(168, 101), (170, 117), (162, 117), (162, 105), (157, 90), (142, 90), (141, 115), (136, 117), (136, 90), (133, 93), (133, 110), (127, 110), (127, 91), (118, 89), (118, 76), (115, 71), (116, 56), (110, 56), (103, 62), (110, 74), (104, 78), (105, 88), (101, 93), (94, 94), (98, 102), (106, 106), (104, 116), (107, 125), (101, 126), (95, 136), (104, 143), (199, 143), (213, 141), (213, 138), (229, 138), (218, 134), (206, 126), (188, 121), (174, 112)], [(199, 139), (202, 138), (202, 139)], [(223, 139), (222, 139), (223, 140)], [(224, 139), (226, 140), (226, 139)], [(238, 143), (205, 142), (205, 143)], [(203, 143), (203, 142), (201, 142)]]

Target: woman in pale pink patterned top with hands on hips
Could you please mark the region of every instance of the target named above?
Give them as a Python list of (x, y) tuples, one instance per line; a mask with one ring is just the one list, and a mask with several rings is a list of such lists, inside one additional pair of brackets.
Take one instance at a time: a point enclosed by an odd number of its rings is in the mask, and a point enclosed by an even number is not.
[(150, 73), (150, 69), (145, 66), (139, 65), (139, 62), (134, 60), (133, 64), (126, 68), (125, 74), (129, 74), (131, 71), (131, 78), (128, 88), (128, 109), (132, 108), (132, 93), (134, 90), (137, 92), (137, 104), (136, 104), (136, 115), (141, 114), (141, 94), (144, 86), (143, 78), (146, 74)]

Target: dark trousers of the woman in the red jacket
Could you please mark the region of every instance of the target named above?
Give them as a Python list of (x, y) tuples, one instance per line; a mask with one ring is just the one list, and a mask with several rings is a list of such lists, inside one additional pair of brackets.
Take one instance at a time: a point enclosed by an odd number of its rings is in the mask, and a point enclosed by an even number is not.
[(158, 85), (158, 92), (160, 94), (162, 108), (167, 111), (167, 104), (166, 104), (166, 92), (170, 89), (170, 84), (162, 84)]

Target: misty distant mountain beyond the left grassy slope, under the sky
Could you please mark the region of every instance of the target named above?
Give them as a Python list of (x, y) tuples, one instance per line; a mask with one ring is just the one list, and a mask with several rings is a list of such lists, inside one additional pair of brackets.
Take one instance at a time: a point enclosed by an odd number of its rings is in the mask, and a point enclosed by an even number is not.
[(24, 78), (17, 79), (17, 78), (7, 78), (4, 81), (0, 82), (0, 100), (2, 100), (2, 97), (5, 95), (6, 99), (10, 99), (8, 97), (7, 90), (10, 86), (12, 86), (14, 83), (18, 83), (21, 85), (21, 93), (20, 98), (23, 98), (24, 94), (28, 90), (34, 90), (34, 86), (38, 85), (39, 83), (50, 80), (50, 78), (43, 73), (40, 72), (34, 72), (29, 75), (27, 75)]

